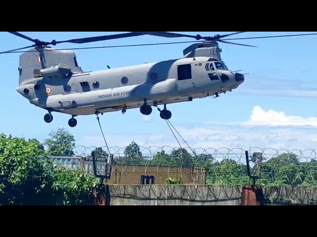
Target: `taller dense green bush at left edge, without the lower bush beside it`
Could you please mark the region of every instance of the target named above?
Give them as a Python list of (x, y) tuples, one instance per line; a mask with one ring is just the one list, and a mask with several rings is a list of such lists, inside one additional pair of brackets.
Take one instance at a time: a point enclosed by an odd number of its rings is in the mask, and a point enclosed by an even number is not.
[(0, 205), (33, 203), (51, 182), (38, 142), (0, 135)]

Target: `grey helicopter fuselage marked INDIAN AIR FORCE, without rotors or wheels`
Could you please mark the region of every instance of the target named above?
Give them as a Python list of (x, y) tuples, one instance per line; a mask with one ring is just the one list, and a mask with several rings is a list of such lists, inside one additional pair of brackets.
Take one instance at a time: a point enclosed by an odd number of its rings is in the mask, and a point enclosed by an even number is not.
[(222, 62), (194, 57), (64, 77), (55, 77), (52, 69), (17, 91), (42, 109), (79, 116), (218, 96), (243, 82), (242, 74), (230, 72)]

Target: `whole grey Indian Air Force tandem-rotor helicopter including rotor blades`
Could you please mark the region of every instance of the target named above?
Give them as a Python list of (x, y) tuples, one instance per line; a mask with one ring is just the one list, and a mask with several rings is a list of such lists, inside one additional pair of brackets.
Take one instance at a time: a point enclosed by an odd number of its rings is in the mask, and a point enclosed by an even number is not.
[[(17, 91), (29, 102), (47, 110), (47, 123), (53, 112), (68, 114), (70, 127), (77, 125), (75, 117), (104, 114), (139, 108), (143, 115), (157, 107), (162, 119), (172, 114), (166, 105), (192, 101), (196, 98), (219, 97), (219, 94), (238, 88), (245, 80), (243, 74), (230, 71), (221, 60), (218, 42), (241, 46), (248, 44), (225, 40), (264, 39), (317, 34), (268, 36), (254, 38), (223, 38), (245, 32), (202, 37), (168, 32), (129, 32), (91, 38), (45, 42), (31, 39), (18, 32), (9, 32), (32, 41), (31, 46), (1, 53), (23, 52), (19, 60)], [(85, 72), (78, 65), (73, 51), (53, 49), (59, 43), (88, 43), (128, 37), (152, 35), (165, 38), (193, 38), (197, 41), (183, 51), (183, 58), (157, 63), (122, 67), (97, 72)], [(174, 43), (174, 42), (173, 42)], [(125, 45), (127, 46), (127, 45)], [(137, 45), (128, 45), (137, 46)], [(19, 51), (30, 48), (28, 51)], [(0, 53), (0, 54), (1, 54)], [(159, 109), (163, 105), (163, 110)]]

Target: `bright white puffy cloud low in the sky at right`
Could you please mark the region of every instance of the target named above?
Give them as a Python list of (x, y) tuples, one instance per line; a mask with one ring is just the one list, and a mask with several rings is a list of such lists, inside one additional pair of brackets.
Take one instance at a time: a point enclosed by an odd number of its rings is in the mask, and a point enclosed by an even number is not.
[(314, 126), (317, 127), (317, 118), (302, 118), (287, 116), (284, 112), (273, 110), (264, 111), (260, 106), (254, 107), (250, 120), (242, 125), (271, 125), (271, 126)]

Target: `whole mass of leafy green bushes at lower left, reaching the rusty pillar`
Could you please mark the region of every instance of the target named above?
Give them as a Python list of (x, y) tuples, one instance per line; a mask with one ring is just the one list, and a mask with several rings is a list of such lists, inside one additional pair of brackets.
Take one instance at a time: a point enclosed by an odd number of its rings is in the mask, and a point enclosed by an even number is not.
[(95, 177), (53, 167), (39, 142), (0, 135), (0, 205), (89, 204)]

